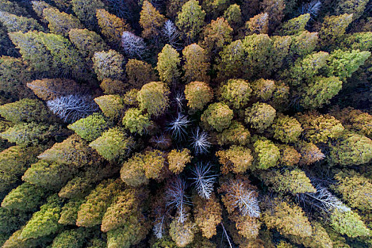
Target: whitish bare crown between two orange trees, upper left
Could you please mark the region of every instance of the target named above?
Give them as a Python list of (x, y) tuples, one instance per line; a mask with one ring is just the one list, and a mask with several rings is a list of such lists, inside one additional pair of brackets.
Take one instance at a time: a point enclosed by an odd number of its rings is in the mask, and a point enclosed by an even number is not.
[(123, 32), (121, 36), (121, 45), (123, 46), (125, 54), (129, 57), (142, 58), (146, 50), (145, 41), (141, 37), (128, 31)]

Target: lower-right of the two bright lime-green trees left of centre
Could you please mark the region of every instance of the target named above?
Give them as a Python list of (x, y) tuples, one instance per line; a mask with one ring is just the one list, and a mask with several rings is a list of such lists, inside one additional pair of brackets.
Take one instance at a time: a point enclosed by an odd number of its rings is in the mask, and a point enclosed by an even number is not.
[(89, 144), (89, 147), (94, 148), (108, 161), (120, 161), (128, 157), (133, 145), (133, 138), (115, 127), (103, 132), (100, 137)]

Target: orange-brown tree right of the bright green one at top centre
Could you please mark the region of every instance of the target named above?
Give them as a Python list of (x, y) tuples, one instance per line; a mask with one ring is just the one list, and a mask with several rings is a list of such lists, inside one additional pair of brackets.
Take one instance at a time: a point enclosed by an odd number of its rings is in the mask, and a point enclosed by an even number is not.
[(220, 52), (224, 45), (232, 42), (232, 28), (225, 18), (217, 18), (212, 20), (205, 26), (203, 36), (204, 40), (201, 47), (205, 49), (208, 57)]

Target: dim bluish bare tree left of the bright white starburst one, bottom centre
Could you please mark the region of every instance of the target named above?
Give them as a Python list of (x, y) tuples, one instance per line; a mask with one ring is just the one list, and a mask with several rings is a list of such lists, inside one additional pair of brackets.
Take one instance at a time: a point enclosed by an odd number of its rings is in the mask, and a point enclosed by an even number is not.
[(177, 209), (178, 221), (184, 223), (187, 218), (186, 204), (189, 203), (185, 195), (186, 182), (179, 177), (172, 181), (166, 191), (167, 206), (173, 206)]

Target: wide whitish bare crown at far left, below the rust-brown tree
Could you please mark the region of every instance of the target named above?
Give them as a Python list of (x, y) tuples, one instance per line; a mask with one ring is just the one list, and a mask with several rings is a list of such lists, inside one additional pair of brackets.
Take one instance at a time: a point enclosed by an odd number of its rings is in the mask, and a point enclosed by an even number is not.
[(61, 96), (47, 101), (47, 106), (64, 122), (74, 122), (98, 111), (98, 106), (91, 96)]

